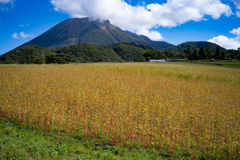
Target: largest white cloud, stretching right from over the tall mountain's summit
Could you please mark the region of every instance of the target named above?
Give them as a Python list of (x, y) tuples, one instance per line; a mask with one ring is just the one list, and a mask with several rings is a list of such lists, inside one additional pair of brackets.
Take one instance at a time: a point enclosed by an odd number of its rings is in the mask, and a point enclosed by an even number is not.
[[(110, 20), (124, 30), (144, 33), (153, 40), (162, 39), (153, 28), (175, 27), (188, 21), (214, 19), (232, 14), (230, 6), (220, 0), (168, 0), (166, 3), (132, 6), (123, 0), (51, 0), (56, 11), (71, 17), (91, 17), (93, 20)], [(148, 31), (148, 32), (147, 32)]]

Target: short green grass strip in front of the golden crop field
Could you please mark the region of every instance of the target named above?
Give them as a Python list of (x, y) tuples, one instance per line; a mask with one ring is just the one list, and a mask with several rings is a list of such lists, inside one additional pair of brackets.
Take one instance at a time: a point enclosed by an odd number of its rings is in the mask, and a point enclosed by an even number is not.
[(162, 159), (8, 126), (0, 122), (0, 159)]

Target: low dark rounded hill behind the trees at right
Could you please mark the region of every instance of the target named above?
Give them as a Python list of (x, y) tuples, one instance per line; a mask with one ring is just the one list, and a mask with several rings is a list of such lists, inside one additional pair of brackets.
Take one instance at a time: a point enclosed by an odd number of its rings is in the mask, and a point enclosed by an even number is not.
[(175, 51), (175, 52), (183, 52), (184, 49), (188, 49), (188, 48), (193, 48), (196, 47), (198, 49), (200, 49), (201, 47), (203, 48), (211, 48), (213, 50), (216, 50), (217, 47), (220, 47), (222, 50), (226, 50), (225, 48), (215, 44), (215, 43), (211, 43), (211, 42), (204, 42), (204, 41), (199, 41), (199, 42), (185, 42), (182, 44), (179, 44), (177, 46), (173, 46), (170, 48), (166, 48), (164, 50), (170, 50), (170, 51)]

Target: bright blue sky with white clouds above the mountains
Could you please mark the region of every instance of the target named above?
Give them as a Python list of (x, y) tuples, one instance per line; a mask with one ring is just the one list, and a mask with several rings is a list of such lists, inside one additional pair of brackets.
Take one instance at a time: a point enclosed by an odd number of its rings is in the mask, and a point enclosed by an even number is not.
[(174, 45), (240, 47), (240, 0), (0, 0), (0, 55), (73, 17), (108, 19)]

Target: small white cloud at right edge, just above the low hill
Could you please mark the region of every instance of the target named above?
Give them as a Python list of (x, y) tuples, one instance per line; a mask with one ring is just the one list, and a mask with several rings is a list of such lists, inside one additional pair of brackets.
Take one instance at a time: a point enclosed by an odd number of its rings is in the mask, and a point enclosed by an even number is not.
[(228, 38), (220, 35), (218, 37), (213, 37), (213, 39), (208, 40), (208, 42), (216, 43), (226, 49), (238, 49), (238, 47), (240, 47), (240, 36)]

